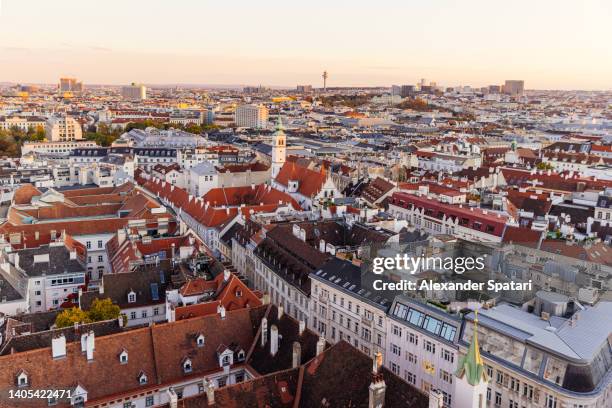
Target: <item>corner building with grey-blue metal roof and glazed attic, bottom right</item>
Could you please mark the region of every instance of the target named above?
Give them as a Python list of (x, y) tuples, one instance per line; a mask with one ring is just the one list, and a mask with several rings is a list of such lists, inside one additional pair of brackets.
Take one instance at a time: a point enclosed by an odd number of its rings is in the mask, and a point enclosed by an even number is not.
[[(576, 303), (556, 315), (541, 299), (530, 313), (509, 304), (478, 314), (478, 338), (489, 379), (490, 407), (603, 408), (612, 401), (612, 302)], [(473, 336), (474, 313), (462, 323), (460, 348)]]

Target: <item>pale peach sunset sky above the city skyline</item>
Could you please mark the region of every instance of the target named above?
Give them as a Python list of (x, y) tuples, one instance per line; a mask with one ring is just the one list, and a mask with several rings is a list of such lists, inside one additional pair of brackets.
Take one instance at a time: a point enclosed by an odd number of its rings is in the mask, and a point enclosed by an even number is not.
[(0, 0), (0, 82), (612, 89), (610, 0)]

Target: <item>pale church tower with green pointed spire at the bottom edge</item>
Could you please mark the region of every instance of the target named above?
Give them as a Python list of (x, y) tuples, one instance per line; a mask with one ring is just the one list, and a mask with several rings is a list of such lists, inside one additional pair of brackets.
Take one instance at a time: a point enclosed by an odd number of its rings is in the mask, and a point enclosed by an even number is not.
[(489, 378), (478, 346), (478, 310), (475, 312), (472, 342), (465, 356), (459, 360), (455, 372), (455, 402), (461, 408), (485, 408)]

